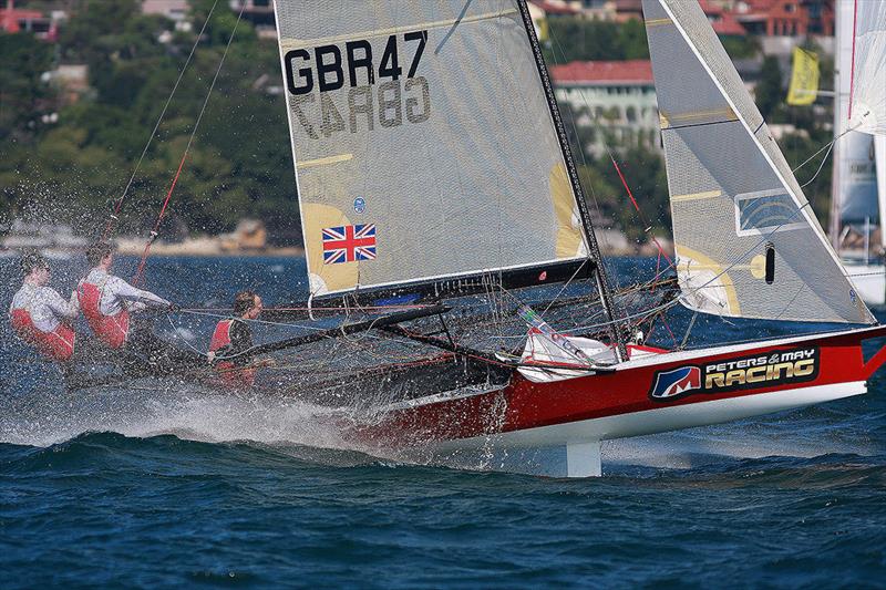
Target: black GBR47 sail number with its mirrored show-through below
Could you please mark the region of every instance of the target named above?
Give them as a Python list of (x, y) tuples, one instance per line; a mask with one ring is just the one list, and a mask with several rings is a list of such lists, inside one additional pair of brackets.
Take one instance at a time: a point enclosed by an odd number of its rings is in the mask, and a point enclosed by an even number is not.
[[(431, 90), (419, 71), (427, 31), (412, 31), (388, 38), (378, 61), (365, 39), (339, 45), (293, 49), (284, 56), (286, 84), (292, 111), (311, 139), (333, 133), (358, 133), (375, 124), (398, 127), (423, 123), (431, 116)], [(412, 55), (401, 55), (401, 51)], [(403, 79), (403, 66), (409, 69)], [(347, 92), (342, 91), (347, 86)], [(315, 93), (315, 89), (319, 91)], [(334, 93), (334, 99), (330, 93)]]

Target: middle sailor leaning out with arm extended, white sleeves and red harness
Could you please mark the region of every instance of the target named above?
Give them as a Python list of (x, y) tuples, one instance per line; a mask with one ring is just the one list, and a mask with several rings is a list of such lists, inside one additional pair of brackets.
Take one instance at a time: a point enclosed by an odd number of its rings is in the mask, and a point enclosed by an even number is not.
[(76, 289), (80, 309), (93, 333), (109, 348), (122, 349), (131, 331), (131, 314), (148, 307), (174, 310), (175, 307), (150, 291), (143, 291), (111, 275), (114, 252), (105, 242), (86, 249), (92, 267)]

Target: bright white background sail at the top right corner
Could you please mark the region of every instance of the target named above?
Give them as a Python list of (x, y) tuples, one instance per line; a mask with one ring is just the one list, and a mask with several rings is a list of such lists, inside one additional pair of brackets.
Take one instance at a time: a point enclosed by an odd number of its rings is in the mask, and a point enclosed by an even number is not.
[[(853, 12), (851, 126), (886, 134), (886, 2), (838, 0)], [(844, 7), (845, 4), (845, 7)]]

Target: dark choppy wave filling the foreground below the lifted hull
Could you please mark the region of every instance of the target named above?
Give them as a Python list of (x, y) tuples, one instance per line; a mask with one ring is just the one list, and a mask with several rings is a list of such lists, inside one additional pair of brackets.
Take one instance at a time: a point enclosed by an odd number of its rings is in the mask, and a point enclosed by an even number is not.
[(6, 587), (869, 584), (884, 572), (885, 459), (557, 480), (92, 432), (0, 444), (0, 567), (28, 572)]

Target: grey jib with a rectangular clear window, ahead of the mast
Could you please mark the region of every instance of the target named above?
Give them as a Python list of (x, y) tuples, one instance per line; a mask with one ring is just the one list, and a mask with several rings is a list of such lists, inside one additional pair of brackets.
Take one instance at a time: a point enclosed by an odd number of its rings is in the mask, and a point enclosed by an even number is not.
[(683, 303), (874, 322), (699, 4), (643, 0), (643, 12)]

